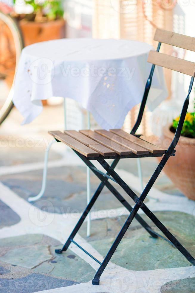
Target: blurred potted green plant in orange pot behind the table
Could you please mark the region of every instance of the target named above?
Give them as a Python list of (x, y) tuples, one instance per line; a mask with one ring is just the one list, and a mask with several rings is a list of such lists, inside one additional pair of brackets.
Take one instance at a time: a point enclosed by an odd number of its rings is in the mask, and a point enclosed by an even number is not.
[(63, 6), (59, 0), (14, 0), (14, 16), (23, 33), (24, 45), (65, 36)]

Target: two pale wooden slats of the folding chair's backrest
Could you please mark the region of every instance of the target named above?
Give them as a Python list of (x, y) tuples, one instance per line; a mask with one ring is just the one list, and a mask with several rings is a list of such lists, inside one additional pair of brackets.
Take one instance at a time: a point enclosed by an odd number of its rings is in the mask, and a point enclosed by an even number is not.
[[(195, 51), (195, 38), (172, 33), (166, 30), (157, 29), (154, 40), (160, 43), (173, 45), (190, 51)], [(177, 57), (162, 54), (157, 51), (150, 51), (148, 62), (172, 69), (190, 76), (195, 76), (195, 63)]]

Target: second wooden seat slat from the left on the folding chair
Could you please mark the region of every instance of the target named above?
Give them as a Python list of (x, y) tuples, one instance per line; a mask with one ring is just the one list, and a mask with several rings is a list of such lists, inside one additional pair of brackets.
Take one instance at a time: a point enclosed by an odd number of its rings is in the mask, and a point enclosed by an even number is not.
[(100, 155), (103, 155), (103, 156), (116, 155), (116, 153), (113, 152), (111, 149), (107, 148), (106, 146), (103, 146), (102, 144), (97, 143), (97, 141), (94, 141), (88, 136), (82, 134), (81, 132), (78, 132), (76, 130), (64, 130), (64, 133), (76, 139), (77, 141), (80, 141), (82, 144), (88, 146), (90, 149), (95, 150)]

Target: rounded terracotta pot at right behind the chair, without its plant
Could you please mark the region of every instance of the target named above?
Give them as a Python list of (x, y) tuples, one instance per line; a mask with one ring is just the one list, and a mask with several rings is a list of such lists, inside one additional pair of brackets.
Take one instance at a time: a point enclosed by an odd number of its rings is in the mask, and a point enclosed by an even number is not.
[[(174, 138), (170, 128), (163, 128), (162, 145), (166, 149)], [(168, 159), (163, 170), (185, 196), (195, 200), (195, 138), (181, 136), (175, 149), (175, 157)]]

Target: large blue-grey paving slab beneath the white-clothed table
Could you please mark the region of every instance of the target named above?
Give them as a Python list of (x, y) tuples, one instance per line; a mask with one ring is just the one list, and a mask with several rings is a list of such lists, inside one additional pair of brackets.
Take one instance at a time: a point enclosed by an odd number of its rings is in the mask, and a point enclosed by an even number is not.
[[(37, 195), (41, 190), (42, 170), (17, 173), (1, 176), (1, 182), (24, 199)], [(100, 180), (91, 173), (91, 194), (95, 192)], [(134, 201), (117, 184), (115, 188), (133, 205)], [(135, 191), (135, 190), (134, 190)], [(135, 191), (137, 195), (137, 193)], [(85, 167), (58, 167), (48, 169), (46, 191), (41, 200), (33, 203), (42, 208), (42, 200), (48, 200), (48, 212), (71, 213), (81, 212), (86, 207), (86, 168)], [(148, 199), (145, 200), (147, 202)], [(118, 208), (120, 202), (104, 187), (92, 210)]]

